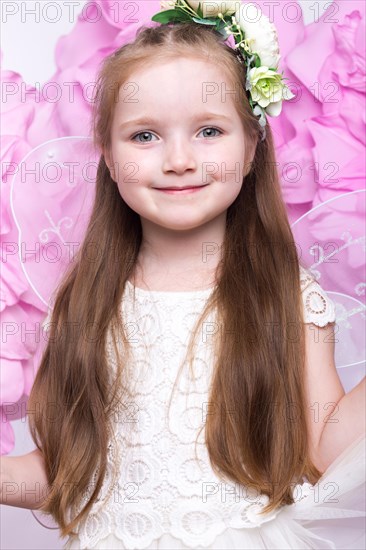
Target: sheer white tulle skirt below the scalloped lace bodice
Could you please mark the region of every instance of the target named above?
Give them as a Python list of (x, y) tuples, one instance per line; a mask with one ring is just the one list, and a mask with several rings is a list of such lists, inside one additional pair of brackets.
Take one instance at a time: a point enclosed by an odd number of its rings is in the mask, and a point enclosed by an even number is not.
[[(272, 520), (259, 527), (229, 528), (205, 548), (364, 550), (365, 448), (366, 439), (363, 435), (338, 456), (316, 485), (306, 484), (301, 500), (284, 506)], [(82, 547), (78, 537), (69, 537), (64, 548)], [(96, 548), (111, 550), (127, 546), (110, 534), (88, 550)], [(171, 550), (192, 547), (165, 533), (145, 548)]]

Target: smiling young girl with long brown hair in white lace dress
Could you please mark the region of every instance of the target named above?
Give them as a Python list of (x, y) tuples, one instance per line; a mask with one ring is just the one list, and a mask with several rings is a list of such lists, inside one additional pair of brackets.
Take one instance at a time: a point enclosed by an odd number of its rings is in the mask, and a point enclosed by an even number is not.
[(65, 548), (360, 544), (364, 381), (345, 395), (334, 304), (297, 257), (245, 77), (188, 20), (103, 63), (94, 208), (28, 404), (37, 449), (2, 460), (3, 487), (39, 488), (2, 502), (51, 514)]

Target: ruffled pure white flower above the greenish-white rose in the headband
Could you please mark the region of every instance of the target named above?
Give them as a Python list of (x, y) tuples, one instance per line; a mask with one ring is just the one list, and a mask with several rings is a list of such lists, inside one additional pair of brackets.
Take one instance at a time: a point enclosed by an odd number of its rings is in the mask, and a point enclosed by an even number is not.
[(259, 55), (262, 65), (276, 69), (281, 56), (274, 24), (252, 3), (241, 4), (235, 19), (244, 31), (251, 52)]

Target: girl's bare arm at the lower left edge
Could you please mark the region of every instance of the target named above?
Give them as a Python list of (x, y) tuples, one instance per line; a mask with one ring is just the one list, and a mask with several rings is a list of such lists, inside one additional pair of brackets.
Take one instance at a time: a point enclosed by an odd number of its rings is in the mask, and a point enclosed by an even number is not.
[(42, 453), (0, 457), (0, 504), (37, 509), (49, 492)]

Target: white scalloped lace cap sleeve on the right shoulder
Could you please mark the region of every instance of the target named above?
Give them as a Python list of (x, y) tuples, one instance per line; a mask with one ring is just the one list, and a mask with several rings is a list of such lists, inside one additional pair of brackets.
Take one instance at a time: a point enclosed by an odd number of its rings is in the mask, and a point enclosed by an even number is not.
[(300, 266), (304, 322), (325, 327), (336, 320), (335, 305), (309, 271)]

